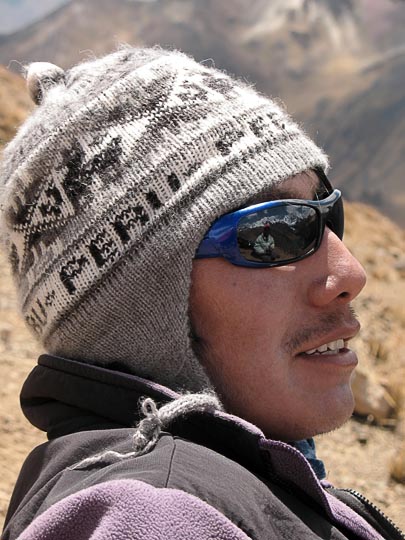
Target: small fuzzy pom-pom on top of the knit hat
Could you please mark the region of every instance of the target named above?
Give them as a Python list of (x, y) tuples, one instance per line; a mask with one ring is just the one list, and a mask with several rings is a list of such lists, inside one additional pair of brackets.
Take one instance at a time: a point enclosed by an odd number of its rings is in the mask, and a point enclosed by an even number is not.
[(40, 105), (50, 88), (65, 83), (65, 72), (49, 62), (33, 62), (28, 66), (26, 79), (32, 101)]

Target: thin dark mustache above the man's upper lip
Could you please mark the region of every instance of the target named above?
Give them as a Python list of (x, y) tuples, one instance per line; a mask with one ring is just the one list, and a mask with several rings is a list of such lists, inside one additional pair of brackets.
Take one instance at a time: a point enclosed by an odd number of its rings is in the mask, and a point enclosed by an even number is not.
[(286, 341), (286, 351), (288, 354), (292, 354), (299, 350), (303, 345), (312, 341), (313, 339), (326, 335), (331, 332), (337, 326), (352, 325), (354, 321), (358, 320), (356, 311), (352, 306), (349, 306), (348, 313), (342, 313), (341, 311), (335, 311), (323, 315), (316, 323), (311, 326), (301, 328), (293, 336), (289, 336)]

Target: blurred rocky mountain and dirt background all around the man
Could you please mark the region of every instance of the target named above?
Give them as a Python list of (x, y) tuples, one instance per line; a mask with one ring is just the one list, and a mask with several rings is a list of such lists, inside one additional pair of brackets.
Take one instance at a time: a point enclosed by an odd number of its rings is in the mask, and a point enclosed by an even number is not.
[[(331, 156), (346, 242), (369, 275), (355, 308), (353, 420), (319, 437), (329, 479), (405, 529), (405, 2), (394, 0), (0, 0), (0, 148), (31, 110), (24, 64), (67, 68), (118, 43), (175, 47), (242, 77)], [(0, 150), (1, 152), (1, 150)], [(26, 453), (44, 440), (18, 392), (39, 352), (0, 258), (0, 517)]]

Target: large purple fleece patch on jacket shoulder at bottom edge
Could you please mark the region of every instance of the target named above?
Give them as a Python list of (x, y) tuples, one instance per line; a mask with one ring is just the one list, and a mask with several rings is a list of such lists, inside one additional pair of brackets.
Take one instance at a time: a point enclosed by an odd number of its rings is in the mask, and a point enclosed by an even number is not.
[(249, 540), (207, 503), (177, 489), (114, 480), (51, 506), (18, 540)]

